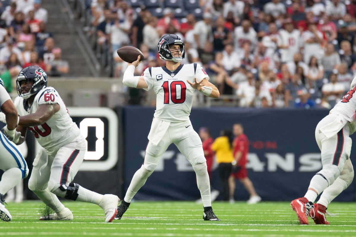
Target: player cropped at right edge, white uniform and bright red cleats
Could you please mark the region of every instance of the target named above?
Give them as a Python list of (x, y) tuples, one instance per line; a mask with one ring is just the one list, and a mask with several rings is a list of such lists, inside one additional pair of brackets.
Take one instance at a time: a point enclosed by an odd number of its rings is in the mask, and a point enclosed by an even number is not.
[[(355, 91), (356, 77), (351, 82), (351, 90), (316, 126), (315, 139), (321, 151), (323, 169), (312, 178), (304, 197), (290, 203), (302, 225), (308, 225), (308, 214), (315, 224), (330, 224), (325, 218), (326, 208), (354, 180), (349, 136), (356, 131)], [(313, 204), (321, 192), (318, 202)]]

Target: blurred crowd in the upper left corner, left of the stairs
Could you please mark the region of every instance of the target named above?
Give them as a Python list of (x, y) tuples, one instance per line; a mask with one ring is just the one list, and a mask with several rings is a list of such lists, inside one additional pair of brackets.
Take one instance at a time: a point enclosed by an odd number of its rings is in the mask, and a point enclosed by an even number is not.
[(61, 48), (55, 47), (53, 34), (46, 29), (48, 12), (41, 0), (3, 0), (0, 2), (0, 78), (8, 92), (22, 68), (36, 65), (48, 75), (69, 71)]

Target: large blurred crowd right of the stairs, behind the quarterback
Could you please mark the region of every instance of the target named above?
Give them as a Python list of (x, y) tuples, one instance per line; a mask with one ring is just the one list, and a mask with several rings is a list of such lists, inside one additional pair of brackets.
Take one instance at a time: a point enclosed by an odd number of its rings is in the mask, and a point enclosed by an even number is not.
[[(116, 54), (140, 48), (137, 68), (164, 65), (157, 42), (167, 33), (185, 42), (182, 63), (203, 65), (221, 95), (241, 107), (331, 108), (356, 73), (356, 1), (349, 0), (91, 0), (97, 44)], [(229, 101), (229, 97), (227, 101)]]

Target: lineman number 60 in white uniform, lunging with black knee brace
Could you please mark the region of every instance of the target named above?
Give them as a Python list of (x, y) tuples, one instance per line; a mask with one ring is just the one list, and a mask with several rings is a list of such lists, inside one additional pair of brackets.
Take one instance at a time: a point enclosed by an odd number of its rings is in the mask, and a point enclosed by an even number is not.
[(85, 139), (58, 92), (47, 87), (46, 72), (38, 66), (28, 66), (17, 77), (16, 87), (19, 97), (14, 103), (20, 115), (17, 131), (23, 135), (17, 144), (23, 142), (28, 128), (42, 146), (33, 161), (28, 187), (55, 212), (40, 220), (73, 220), (72, 212), (58, 200), (60, 196), (99, 205), (105, 222), (111, 222), (120, 199), (72, 183), (84, 159)]

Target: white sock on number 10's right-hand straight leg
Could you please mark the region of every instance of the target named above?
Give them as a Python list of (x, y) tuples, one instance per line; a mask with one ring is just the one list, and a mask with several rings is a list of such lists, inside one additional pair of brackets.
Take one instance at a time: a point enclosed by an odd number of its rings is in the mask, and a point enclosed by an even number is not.
[(206, 168), (206, 163), (200, 163), (193, 166), (195, 174), (197, 175), (197, 185), (200, 190), (201, 201), (203, 201), (203, 206), (211, 206), (211, 195), (210, 195), (210, 182), (208, 169)]

